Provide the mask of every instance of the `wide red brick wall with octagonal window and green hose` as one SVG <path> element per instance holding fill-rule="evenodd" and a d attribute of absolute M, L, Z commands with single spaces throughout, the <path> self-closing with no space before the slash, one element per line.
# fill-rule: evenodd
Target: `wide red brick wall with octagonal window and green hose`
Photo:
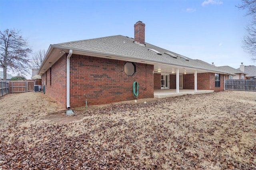
<path fill-rule="evenodd" d="M 104 59 L 83 55 L 70 58 L 70 107 L 108 104 L 133 100 L 132 85 L 139 84 L 138 98 L 154 97 L 154 66 L 136 63 L 136 72 L 127 76 L 126 61 Z M 145 90 L 144 90 L 145 89 Z"/>

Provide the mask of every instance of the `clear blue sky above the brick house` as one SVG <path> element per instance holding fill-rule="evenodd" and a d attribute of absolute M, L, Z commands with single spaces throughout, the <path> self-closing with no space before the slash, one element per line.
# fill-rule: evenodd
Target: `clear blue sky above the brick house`
<path fill-rule="evenodd" d="M 216 66 L 255 65 L 242 49 L 250 18 L 240 0 L 0 0 L 0 30 L 20 29 L 31 49 L 111 35 L 134 37 Z"/>

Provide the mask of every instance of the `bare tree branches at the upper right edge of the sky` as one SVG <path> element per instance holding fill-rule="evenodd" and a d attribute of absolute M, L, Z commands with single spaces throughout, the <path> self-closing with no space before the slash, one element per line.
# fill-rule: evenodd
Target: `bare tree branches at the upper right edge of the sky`
<path fill-rule="evenodd" d="M 251 23 L 245 27 L 246 35 L 242 41 L 242 48 L 252 55 L 252 61 L 256 62 L 256 0 L 242 0 L 238 8 L 246 9 L 246 16 L 252 16 Z"/>

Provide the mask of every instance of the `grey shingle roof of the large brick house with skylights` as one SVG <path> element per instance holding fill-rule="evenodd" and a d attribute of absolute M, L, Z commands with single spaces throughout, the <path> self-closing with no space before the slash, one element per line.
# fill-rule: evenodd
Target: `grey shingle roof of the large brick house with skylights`
<path fill-rule="evenodd" d="M 145 43 L 145 46 L 138 45 L 134 43 L 134 39 L 130 37 L 125 37 L 122 35 L 115 35 L 109 37 L 101 37 L 95 39 L 86 39 L 80 41 L 71 41 L 66 43 L 54 44 L 55 46 L 60 46 L 64 48 L 76 49 L 76 50 L 86 50 L 86 51 L 96 51 L 102 53 L 109 53 L 111 55 L 119 55 L 123 57 L 132 57 L 140 60 L 154 61 L 159 63 L 173 64 L 178 66 L 187 66 L 190 68 L 200 68 L 203 70 L 210 70 L 215 72 L 224 72 L 216 66 L 211 64 L 206 64 L 205 62 L 199 62 L 199 60 L 189 59 L 186 61 L 180 57 L 177 59 L 170 57 L 170 55 L 165 54 L 172 53 L 174 55 L 180 55 L 172 51 L 157 47 L 155 45 Z M 157 55 L 152 53 L 148 49 L 154 49 L 162 53 L 162 55 Z"/>

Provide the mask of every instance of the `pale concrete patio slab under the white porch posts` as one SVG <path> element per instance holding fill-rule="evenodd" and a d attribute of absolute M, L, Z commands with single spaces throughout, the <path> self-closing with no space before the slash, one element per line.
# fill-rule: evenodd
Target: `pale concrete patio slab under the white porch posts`
<path fill-rule="evenodd" d="M 214 90 L 190 90 L 190 89 L 179 89 L 179 92 L 176 92 L 176 89 L 161 89 L 154 90 L 154 98 L 168 98 L 174 96 L 182 96 L 186 94 L 205 94 L 205 93 L 213 93 Z"/>

